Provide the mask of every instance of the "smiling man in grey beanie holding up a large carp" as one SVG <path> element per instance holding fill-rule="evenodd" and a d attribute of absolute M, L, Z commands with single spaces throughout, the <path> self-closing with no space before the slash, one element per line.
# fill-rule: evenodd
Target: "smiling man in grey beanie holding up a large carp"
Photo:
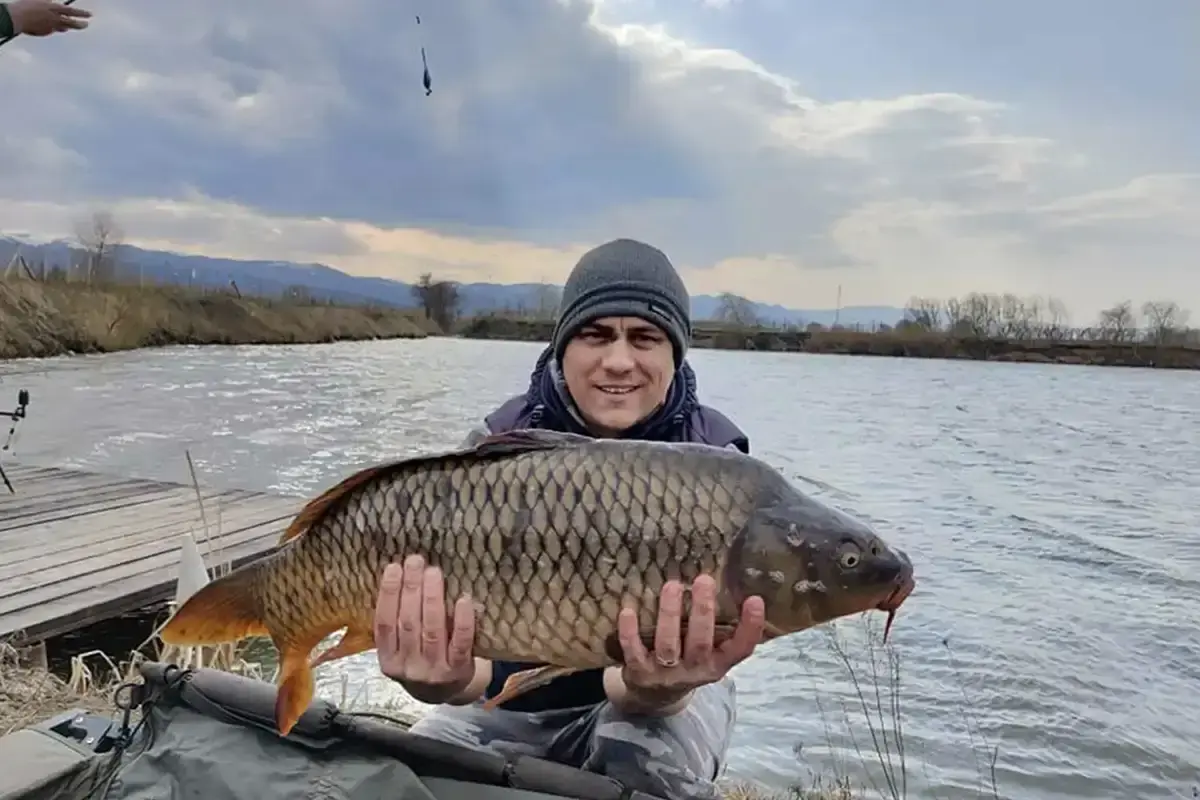
<path fill-rule="evenodd" d="M 550 428 L 596 438 L 700 441 L 749 452 L 746 435 L 701 405 L 685 361 L 690 299 L 671 261 L 648 245 L 616 240 L 586 253 L 563 290 L 553 341 L 528 390 L 500 405 L 468 438 Z M 608 775 L 662 798 L 715 798 L 734 712 L 726 673 L 761 640 L 763 606 L 750 599 L 734 637 L 713 646 L 715 585 L 692 585 L 680 642 L 683 587 L 660 596 L 653 654 L 626 609 L 619 620 L 625 666 L 576 673 L 514 698 L 496 711 L 478 704 L 535 664 L 473 658 L 472 603 L 461 600 L 445 631 L 443 582 L 419 557 L 384 573 L 376 643 L 384 674 L 416 699 L 438 704 L 415 733 L 548 758 Z M 422 613 L 426 608 L 438 610 Z M 422 620 L 425 624 L 422 628 Z M 706 633 L 707 631 L 707 633 Z"/>

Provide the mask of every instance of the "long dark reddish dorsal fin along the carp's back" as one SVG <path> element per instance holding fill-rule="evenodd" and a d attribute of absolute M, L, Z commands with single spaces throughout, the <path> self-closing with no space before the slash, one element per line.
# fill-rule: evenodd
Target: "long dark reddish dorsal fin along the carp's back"
<path fill-rule="evenodd" d="M 383 477 L 388 473 L 402 468 L 410 468 L 418 462 L 458 458 L 502 458 L 534 450 L 570 447 L 588 441 L 594 441 L 594 439 L 577 433 L 559 433 L 558 431 L 542 431 L 533 428 L 506 431 L 504 433 L 485 435 L 470 447 L 440 453 L 413 456 L 410 458 L 402 458 L 360 469 L 306 503 L 300 510 L 300 513 L 298 513 L 288 525 L 287 530 L 283 531 L 283 535 L 280 537 L 280 545 L 295 539 L 312 528 L 322 517 L 325 516 L 335 503 L 348 495 L 350 492 L 354 492 L 378 477 Z"/>

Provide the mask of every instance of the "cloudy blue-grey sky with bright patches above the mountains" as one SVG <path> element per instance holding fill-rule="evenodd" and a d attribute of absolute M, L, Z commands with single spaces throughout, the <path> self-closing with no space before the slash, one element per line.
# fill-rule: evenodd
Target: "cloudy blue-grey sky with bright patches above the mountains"
<path fill-rule="evenodd" d="M 78 5 L 0 48 L 7 234 L 504 283 L 631 236 L 694 294 L 1200 317 L 1194 0 Z"/>

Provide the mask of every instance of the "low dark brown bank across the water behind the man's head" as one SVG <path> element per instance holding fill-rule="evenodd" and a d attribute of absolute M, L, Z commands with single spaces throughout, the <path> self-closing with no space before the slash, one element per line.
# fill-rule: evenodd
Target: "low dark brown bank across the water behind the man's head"
<path fill-rule="evenodd" d="M 548 342 L 552 330 L 551 320 L 494 314 L 464 320 L 457 333 L 464 338 Z M 991 339 L 955 336 L 941 331 L 896 329 L 808 331 L 740 327 L 697 320 L 694 326 L 692 347 L 714 350 L 874 355 L 900 359 L 1200 369 L 1200 347 L 1193 345 L 1098 339 Z"/>

